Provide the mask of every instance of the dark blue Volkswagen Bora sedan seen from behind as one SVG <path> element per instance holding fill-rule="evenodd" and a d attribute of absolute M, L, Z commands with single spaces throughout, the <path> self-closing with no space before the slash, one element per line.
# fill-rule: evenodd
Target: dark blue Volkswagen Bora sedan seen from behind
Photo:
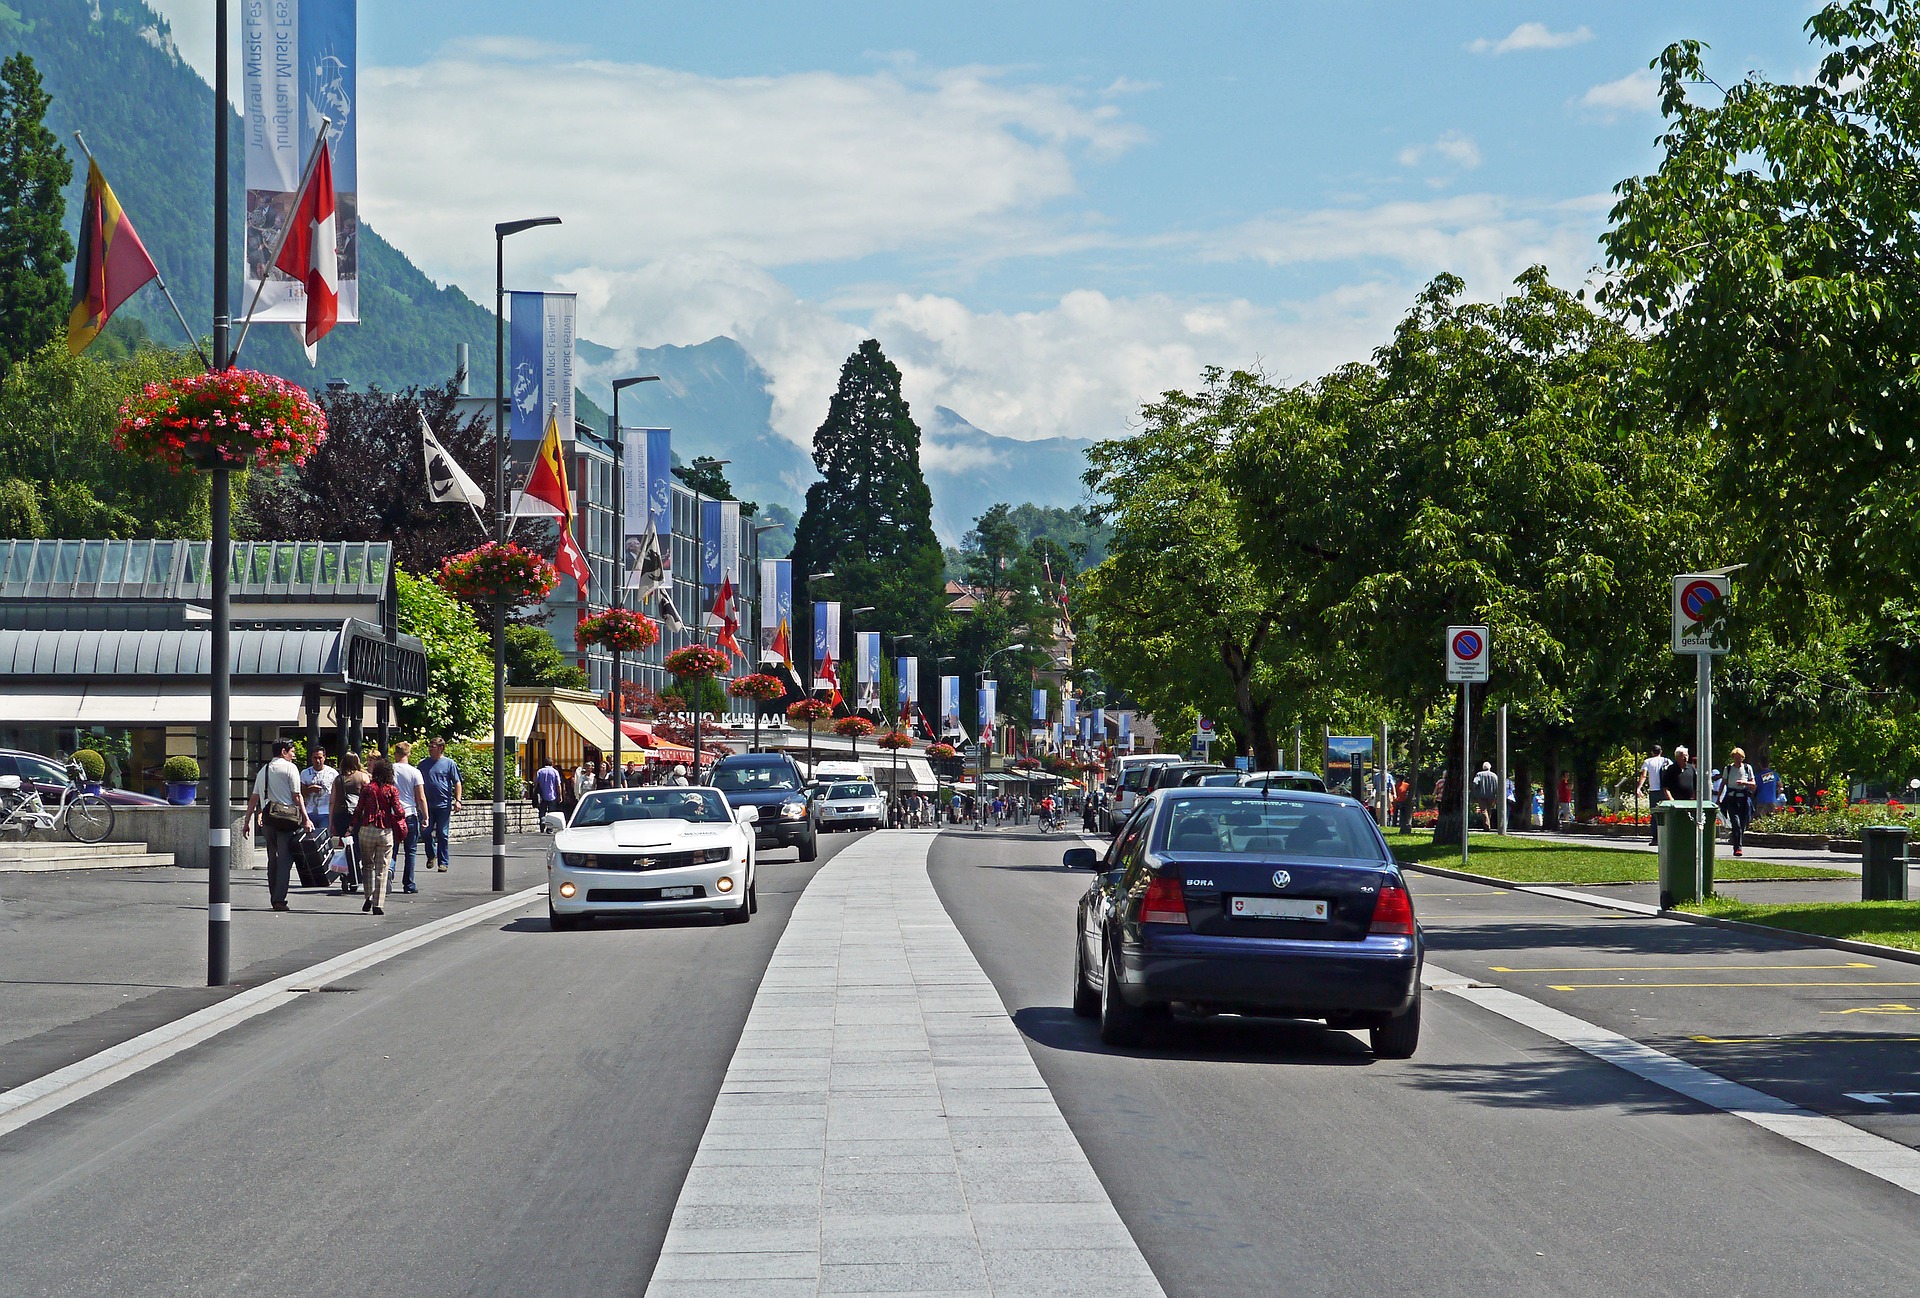
<path fill-rule="evenodd" d="M 1359 803 L 1283 789 L 1160 789 L 1121 826 L 1079 902 L 1073 1012 L 1137 1045 L 1173 1006 L 1369 1029 L 1380 1058 L 1421 1037 L 1421 931 Z"/>

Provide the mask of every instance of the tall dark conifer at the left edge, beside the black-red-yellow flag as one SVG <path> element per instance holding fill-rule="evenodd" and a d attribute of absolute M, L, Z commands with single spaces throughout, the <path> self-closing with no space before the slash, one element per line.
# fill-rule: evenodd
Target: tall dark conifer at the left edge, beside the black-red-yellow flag
<path fill-rule="evenodd" d="M 73 240 L 61 190 L 73 159 L 46 129 L 52 102 L 27 54 L 0 63 L 0 376 L 67 319 Z"/>

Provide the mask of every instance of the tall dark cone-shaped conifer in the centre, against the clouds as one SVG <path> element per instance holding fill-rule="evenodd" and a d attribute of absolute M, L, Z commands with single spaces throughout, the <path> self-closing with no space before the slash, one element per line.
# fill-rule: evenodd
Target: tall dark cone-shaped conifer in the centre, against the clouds
<path fill-rule="evenodd" d="M 929 634 L 945 607 L 933 495 L 900 371 L 872 338 L 841 367 L 814 467 L 822 480 L 806 488 L 795 572 L 831 570 L 845 607 L 877 611 L 868 626 Z"/>

